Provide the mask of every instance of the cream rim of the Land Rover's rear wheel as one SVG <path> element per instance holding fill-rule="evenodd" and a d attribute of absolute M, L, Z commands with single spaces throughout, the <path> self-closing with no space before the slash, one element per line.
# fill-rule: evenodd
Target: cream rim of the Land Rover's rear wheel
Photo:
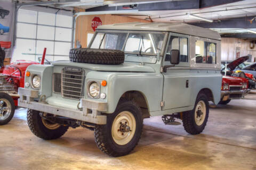
<path fill-rule="evenodd" d="M 206 115 L 206 105 L 203 100 L 200 100 L 195 109 L 195 122 L 198 126 L 201 126 L 204 123 Z"/>

